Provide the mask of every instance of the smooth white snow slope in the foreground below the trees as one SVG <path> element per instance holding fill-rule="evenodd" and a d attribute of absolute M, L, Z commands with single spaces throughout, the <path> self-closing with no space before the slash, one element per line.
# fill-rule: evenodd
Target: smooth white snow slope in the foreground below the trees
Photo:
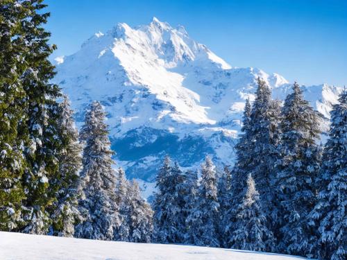
<path fill-rule="evenodd" d="M 1 260 L 244 260 L 244 259 L 302 259 L 280 254 L 266 254 L 190 245 L 159 245 L 67 239 L 0 232 Z"/>

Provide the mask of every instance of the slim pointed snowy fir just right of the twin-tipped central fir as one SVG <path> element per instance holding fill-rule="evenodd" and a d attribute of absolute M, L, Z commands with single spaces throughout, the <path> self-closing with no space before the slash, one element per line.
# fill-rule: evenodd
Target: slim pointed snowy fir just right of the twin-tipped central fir
<path fill-rule="evenodd" d="M 194 245 L 219 247 L 219 202 L 217 176 L 210 157 L 201 165 L 201 184 L 194 212 L 190 216 L 190 232 L 194 232 Z"/>

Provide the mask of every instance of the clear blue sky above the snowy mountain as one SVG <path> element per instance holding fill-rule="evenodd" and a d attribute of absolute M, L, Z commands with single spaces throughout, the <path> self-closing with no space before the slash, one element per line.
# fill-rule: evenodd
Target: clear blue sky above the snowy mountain
<path fill-rule="evenodd" d="M 54 57 L 118 22 L 152 17 L 189 35 L 235 67 L 258 67 L 301 84 L 347 85 L 347 0 L 46 0 Z"/>

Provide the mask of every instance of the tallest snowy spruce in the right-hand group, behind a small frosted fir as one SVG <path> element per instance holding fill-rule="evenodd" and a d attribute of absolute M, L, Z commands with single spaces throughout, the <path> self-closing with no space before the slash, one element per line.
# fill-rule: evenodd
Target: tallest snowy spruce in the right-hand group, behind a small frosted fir
<path fill-rule="evenodd" d="M 278 160 L 278 102 L 271 100 L 271 91 L 261 78 L 257 79 L 257 92 L 251 108 L 246 102 L 243 127 L 236 148 L 237 162 L 232 170 L 232 196 L 230 206 L 226 209 L 223 223 L 225 225 L 224 237 L 227 241 L 233 232 L 238 205 L 242 203 L 246 187 L 246 175 L 251 173 L 257 183 L 260 193 L 266 227 L 273 229 L 273 220 L 276 220 L 276 189 L 273 182 Z M 226 247 L 231 245 L 226 243 Z"/>

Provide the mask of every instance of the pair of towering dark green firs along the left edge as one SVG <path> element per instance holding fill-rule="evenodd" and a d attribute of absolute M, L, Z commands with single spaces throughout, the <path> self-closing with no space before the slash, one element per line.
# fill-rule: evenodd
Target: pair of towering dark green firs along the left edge
<path fill-rule="evenodd" d="M 42 13 L 41 0 L 1 3 L 0 197 L 6 203 L 0 202 L 0 215 L 9 207 L 14 212 L 1 229 L 44 234 L 50 222 L 46 209 L 55 200 L 49 180 L 58 176 L 61 146 L 60 89 L 49 83 L 55 46 L 42 27 L 49 14 Z"/>

